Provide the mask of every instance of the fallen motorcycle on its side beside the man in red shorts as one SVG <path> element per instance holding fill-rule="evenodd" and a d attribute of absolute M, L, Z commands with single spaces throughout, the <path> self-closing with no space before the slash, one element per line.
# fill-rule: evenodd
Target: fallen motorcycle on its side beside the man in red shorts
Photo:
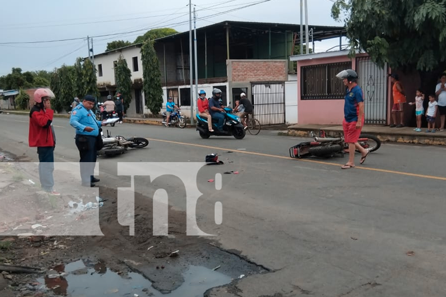
<path fill-rule="evenodd" d="M 378 150 L 381 146 L 379 138 L 368 134 L 359 135 L 358 143 L 371 152 Z M 301 142 L 289 148 L 291 158 L 330 157 L 336 154 L 344 155 L 346 152 L 348 152 L 348 144 L 344 142 L 343 135 L 338 138 L 315 137 L 314 141 Z"/>

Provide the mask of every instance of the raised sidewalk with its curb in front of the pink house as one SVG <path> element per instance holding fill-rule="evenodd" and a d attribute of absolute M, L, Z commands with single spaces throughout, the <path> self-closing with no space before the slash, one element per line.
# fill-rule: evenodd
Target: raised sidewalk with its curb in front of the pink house
<path fill-rule="evenodd" d="M 376 135 L 383 142 L 402 142 L 429 145 L 446 146 L 446 130 L 436 131 L 436 133 L 425 133 L 427 128 L 422 128 L 422 132 L 413 131 L 414 127 L 389 128 L 389 126 L 364 126 L 362 134 Z M 282 135 L 311 137 L 319 136 L 319 131 L 324 130 L 326 137 L 338 137 L 343 133 L 342 125 L 293 125 Z M 313 132 L 313 133 L 312 133 Z"/>

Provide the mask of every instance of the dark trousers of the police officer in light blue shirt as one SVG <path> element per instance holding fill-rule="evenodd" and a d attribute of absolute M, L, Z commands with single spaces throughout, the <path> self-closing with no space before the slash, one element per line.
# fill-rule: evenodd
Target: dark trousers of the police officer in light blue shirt
<path fill-rule="evenodd" d="M 93 182 L 93 175 L 96 165 L 96 137 L 91 135 L 76 135 L 76 146 L 79 150 L 80 171 L 82 184 L 90 184 Z"/>

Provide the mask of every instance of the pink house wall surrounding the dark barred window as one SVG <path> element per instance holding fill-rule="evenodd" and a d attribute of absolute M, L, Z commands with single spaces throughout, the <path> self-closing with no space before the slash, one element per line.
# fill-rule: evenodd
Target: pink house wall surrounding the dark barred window
<path fill-rule="evenodd" d="M 351 61 L 351 67 L 355 69 L 356 59 L 350 59 L 347 56 L 297 61 L 297 120 L 299 124 L 342 125 L 343 99 L 301 100 L 301 67 L 347 61 Z"/>

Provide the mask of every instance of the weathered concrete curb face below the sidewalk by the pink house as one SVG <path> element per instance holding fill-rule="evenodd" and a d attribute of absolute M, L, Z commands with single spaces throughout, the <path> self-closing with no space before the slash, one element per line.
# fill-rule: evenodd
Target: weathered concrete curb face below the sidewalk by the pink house
<path fill-rule="evenodd" d="M 415 144 L 426 144 L 426 145 L 440 145 L 446 146 L 446 134 L 413 134 L 410 132 L 401 131 L 398 134 L 392 134 L 388 132 L 376 132 L 368 130 L 368 127 L 364 127 L 362 131 L 363 134 L 371 134 L 378 137 L 382 142 L 399 142 L 399 143 L 415 143 Z M 294 136 L 294 137 L 311 137 L 311 132 L 314 136 L 319 135 L 319 128 L 289 128 L 287 133 L 280 132 L 279 135 Z M 343 133 L 342 127 L 339 129 L 323 129 L 327 137 L 339 137 Z M 437 132 L 438 133 L 438 132 Z"/>

